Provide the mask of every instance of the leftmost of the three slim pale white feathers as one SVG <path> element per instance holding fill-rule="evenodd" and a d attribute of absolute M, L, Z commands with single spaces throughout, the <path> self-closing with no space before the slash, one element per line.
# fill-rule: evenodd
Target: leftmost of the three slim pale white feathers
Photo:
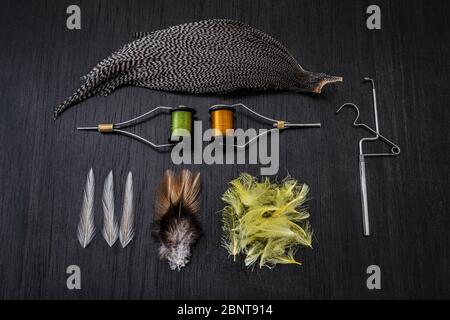
<path fill-rule="evenodd" d="M 77 229 L 77 238 L 83 248 L 86 248 L 95 237 L 94 187 L 94 172 L 91 168 L 86 178 L 83 205 L 81 206 L 80 222 Z"/>

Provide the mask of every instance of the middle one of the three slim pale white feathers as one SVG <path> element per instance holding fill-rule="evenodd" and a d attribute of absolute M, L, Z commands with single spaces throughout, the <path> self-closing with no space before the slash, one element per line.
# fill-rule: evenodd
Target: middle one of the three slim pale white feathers
<path fill-rule="evenodd" d="M 119 227 L 114 216 L 114 180 L 112 171 L 109 172 L 103 186 L 103 238 L 110 247 L 119 237 Z"/>

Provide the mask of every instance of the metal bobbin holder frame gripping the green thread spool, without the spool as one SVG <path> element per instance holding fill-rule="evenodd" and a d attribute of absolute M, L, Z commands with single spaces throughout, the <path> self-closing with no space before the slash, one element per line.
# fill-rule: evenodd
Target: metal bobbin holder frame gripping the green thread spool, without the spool
<path fill-rule="evenodd" d="M 118 134 L 122 134 L 124 136 L 133 138 L 135 140 L 138 140 L 142 143 L 145 143 L 153 148 L 156 149 L 160 149 L 160 148 L 167 148 L 167 147 L 171 147 L 174 144 L 173 143 L 166 143 L 166 144 L 157 144 L 154 143 L 150 140 L 147 140 L 133 132 L 130 131 L 126 131 L 123 130 L 124 128 L 128 128 L 128 127 L 132 127 L 136 124 L 142 123 L 146 120 L 148 120 L 149 116 L 157 111 L 173 111 L 176 110 L 177 108 L 173 108 L 173 107 L 164 107 L 164 106 L 159 106 L 156 107 L 144 114 L 141 114 L 140 116 L 137 116 L 133 119 L 130 120 L 126 120 L 123 122 L 119 122 L 119 123 L 101 123 L 99 125 L 97 125 L 96 127 L 78 127 L 77 130 L 86 130 L 86 131 L 98 131 L 100 133 L 118 133 Z"/>

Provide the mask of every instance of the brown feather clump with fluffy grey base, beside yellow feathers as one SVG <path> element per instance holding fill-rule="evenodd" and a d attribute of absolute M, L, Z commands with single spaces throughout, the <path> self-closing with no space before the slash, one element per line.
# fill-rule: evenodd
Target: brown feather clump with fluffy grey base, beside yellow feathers
<path fill-rule="evenodd" d="M 167 170 L 156 191 L 154 236 L 160 242 L 159 256 L 170 269 L 186 266 L 195 242 L 201 236 L 200 173 Z"/>

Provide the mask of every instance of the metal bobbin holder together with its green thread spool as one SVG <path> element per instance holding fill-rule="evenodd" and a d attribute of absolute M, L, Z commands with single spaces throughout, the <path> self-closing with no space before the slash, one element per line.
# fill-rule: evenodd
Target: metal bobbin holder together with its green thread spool
<path fill-rule="evenodd" d="M 157 144 L 150 140 L 147 140 L 133 132 L 126 131 L 124 128 L 132 127 L 136 124 L 142 123 L 150 117 L 151 114 L 155 112 L 166 111 L 170 113 L 170 138 L 169 143 L 165 144 Z M 176 142 L 180 141 L 183 137 L 188 136 L 192 133 L 192 124 L 193 117 L 195 114 L 195 110 L 193 108 L 189 108 L 183 105 L 178 107 L 164 107 L 159 106 L 156 107 L 140 116 L 137 116 L 133 119 L 126 120 L 119 123 L 102 123 L 97 125 L 96 127 L 78 127 L 78 130 L 90 130 L 90 131 L 98 131 L 100 133 L 118 133 L 130 138 L 136 139 L 142 143 L 145 143 L 155 149 L 160 148 L 168 148 L 172 147 L 176 144 Z"/>

